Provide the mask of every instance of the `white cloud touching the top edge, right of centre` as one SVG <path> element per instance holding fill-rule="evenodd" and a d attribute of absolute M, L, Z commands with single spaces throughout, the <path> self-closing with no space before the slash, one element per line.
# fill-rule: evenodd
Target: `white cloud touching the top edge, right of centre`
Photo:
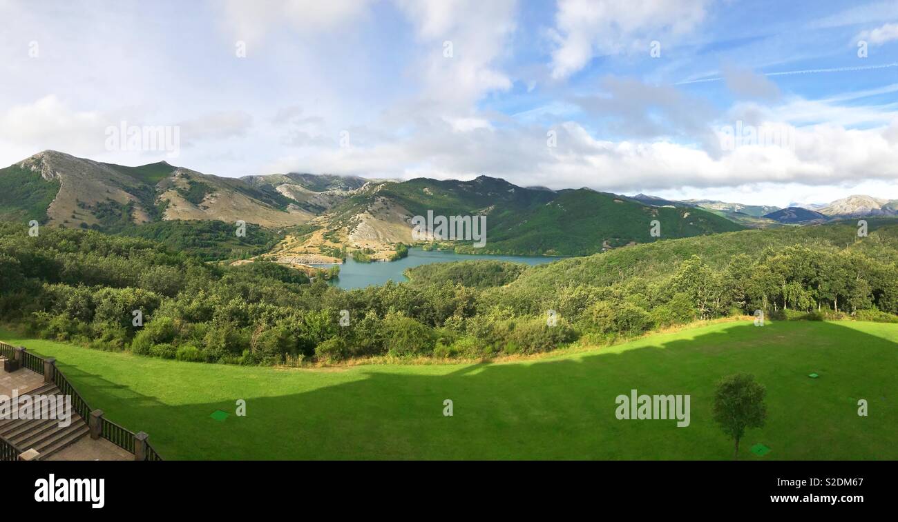
<path fill-rule="evenodd" d="M 705 20 L 709 0 L 559 0 L 552 52 L 552 77 L 565 78 L 596 55 L 648 54 L 652 40 L 662 49 Z M 663 51 L 662 51 L 663 52 Z"/>

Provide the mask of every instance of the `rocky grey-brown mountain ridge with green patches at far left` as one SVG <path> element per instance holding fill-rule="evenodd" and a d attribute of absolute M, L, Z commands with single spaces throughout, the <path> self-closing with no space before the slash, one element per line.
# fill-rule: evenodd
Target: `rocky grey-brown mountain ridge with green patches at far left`
<path fill-rule="evenodd" d="M 0 193 L 23 181 L 38 192 L 58 186 L 44 208 L 0 199 L 0 214 L 101 229 L 161 220 L 244 220 L 280 227 L 313 218 L 276 190 L 164 161 L 126 167 L 44 151 L 0 169 Z"/>

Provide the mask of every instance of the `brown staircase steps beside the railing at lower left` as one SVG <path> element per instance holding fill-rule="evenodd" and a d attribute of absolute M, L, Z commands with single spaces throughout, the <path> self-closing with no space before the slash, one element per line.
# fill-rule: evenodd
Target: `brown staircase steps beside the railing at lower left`
<path fill-rule="evenodd" d="M 22 394 L 25 395 L 25 394 Z M 61 396 L 59 388 L 48 383 L 27 393 L 29 396 Z M 57 420 L 0 420 L 0 437 L 26 451 L 34 448 L 40 458 L 47 458 L 62 448 L 74 444 L 88 434 L 87 421 L 72 411 L 72 422 L 65 428 Z"/>

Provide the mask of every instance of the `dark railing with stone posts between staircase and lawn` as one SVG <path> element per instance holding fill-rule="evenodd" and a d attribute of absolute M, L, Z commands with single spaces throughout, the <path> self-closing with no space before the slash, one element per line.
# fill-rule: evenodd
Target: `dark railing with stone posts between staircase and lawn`
<path fill-rule="evenodd" d="M 0 355 L 3 355 L 8 359 L 14 359 L 15 352 L 15 347 L 11 346 L 10 344 L 0 342 Z M 22 351 L 22 366 L 35 373 L 44 375 L 44 358 L 40 357 L 40 355 L 36 355 L 28 351 Z M 56 366 L 54 366 L 53 370 L 53 384 L 55 384 L 59 388 L 59 391 L 62 392 L 64 396 L 72 397 L 72 409 L 75 410 L 75 413 L 81 415 L 81 418 L 84 419 L 84 422 L 88 422 L 91 417 L 91 412 L 93 411 L 91 406 L 87 404 L 87 401 L 84 400 L 84 397 L 82 397 L 81 394 L 78 393 L 78 390 L 75 389 L 75 386 L 68 380 L 68 378 L 66 378 L 66 375 L 63 374 L 62 371 L 59 371 Z M 127 428 L 124 428 L 105 417 L 101 417 L 100 422 L 100 436 L 103 439 L 109 440 L 111 443 L 115 444 L 119 448 L 127 450 L 129 453 L 134 453 L 134 431 L 130 431 Z M 159 453 L 157 453 L 156 450 L 152 446 L 150 446 L 148 442 L 144 443 L 144 447 L 145 460 L 163 460 L 162 457 L 159 457 Z M 5 439 L 0 439 L 0 460 L 15 460 L 16 458 L 18 458 L 20 453 L 22 453 L 22 451 L 18 448 L 15 448 L 15 446 L 13 446 L 11 442 Z M 12 457 L 6 458 L 7 456 Z"/>

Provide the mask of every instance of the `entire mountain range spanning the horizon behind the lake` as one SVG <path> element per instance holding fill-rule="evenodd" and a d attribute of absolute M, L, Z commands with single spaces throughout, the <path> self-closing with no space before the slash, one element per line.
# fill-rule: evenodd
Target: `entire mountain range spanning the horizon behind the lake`
<path fill-rule="evenodd" d="M 411 218 L 487 215 L 488 241 L 437 244 L 459 251 L 578 256 L 659 239 L 744 228 L 898 215 L 898 202 L 850 196 L 818 211 L 803 208 L 620 196 L 590 188 L 518 187 L 500 178 L 408 181 L 286 173 L 224 178 L 165 161 L 127 167 L 44 151 L 0 169 L 0 218 L 124 231 L 165 222 L 237 222 L 281 240 L 269 257 L 286 264 L 390 259 L 411 244 Z M 178 234 L 183 236 L 184 225 Z M 217 231 L 217 229 L 216 229 Z M 132 231 L 133 232 L 133 231 Z M 216 232 L 217 233 L 217 232 Z M 268 240 L 268 239 L 267 239 Z"/>

